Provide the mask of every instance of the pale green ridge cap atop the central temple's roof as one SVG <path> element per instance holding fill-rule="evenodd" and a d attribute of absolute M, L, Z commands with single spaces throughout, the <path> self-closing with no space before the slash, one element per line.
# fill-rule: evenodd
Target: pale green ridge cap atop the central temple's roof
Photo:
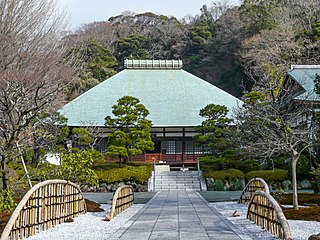
<path fill-rule="evenodd" d="M 182 60 L 124 60 L 124 68 L 127 69 L 182 69 L 182 67 Z"/>

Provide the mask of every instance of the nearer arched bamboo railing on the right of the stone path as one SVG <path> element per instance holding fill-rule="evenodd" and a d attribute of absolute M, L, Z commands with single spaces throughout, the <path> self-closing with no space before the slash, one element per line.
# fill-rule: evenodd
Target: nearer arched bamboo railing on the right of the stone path
<path fill-rule="evenodd" d="M 253 194 L 247 218 L 280 239 L 291 240 L 291 230 L 278 202 L 269 194 L 257 191 Z"/>

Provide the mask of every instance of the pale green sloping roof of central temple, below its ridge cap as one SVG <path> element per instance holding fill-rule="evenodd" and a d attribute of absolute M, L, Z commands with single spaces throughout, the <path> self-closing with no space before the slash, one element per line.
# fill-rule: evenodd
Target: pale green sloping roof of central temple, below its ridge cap
<path fill-rule="evenodd" d="M 242 105 L 234 96 L 182 70 L 125 69 L 100 83 L 61 110 L 69 126 L 104 126 L 112 106 L 130 95 L 146 106 L 154 126 L 196 126 L 207 104 Z"/>

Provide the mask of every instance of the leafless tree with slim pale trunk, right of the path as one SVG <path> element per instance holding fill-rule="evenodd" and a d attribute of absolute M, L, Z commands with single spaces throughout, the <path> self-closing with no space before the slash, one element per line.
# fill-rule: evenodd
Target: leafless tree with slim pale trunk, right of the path
<path fill-rule="evenodd" d="M 297 162 L 314 142 L 314 106 L 303 101 L 285 107 L 262 92 L 245 95 L 244 106 L 236 112 L 241 148 L 247 153 L 269 159 L 277 154 L 290 156 L 293 207 L 298 209 Z"/>

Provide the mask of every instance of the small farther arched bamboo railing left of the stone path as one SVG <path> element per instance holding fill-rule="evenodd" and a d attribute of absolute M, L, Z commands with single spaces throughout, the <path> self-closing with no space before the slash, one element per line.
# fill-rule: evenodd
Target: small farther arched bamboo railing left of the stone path
<path fill-rule="evenodd" d="M 133 202 L 133 188 L 127 185 L 119 187 L 113 195 L 111 212 L 108 216 L 106 216 L 106 220 L 110 221 L 119 213 L 131 207 Z"/>

